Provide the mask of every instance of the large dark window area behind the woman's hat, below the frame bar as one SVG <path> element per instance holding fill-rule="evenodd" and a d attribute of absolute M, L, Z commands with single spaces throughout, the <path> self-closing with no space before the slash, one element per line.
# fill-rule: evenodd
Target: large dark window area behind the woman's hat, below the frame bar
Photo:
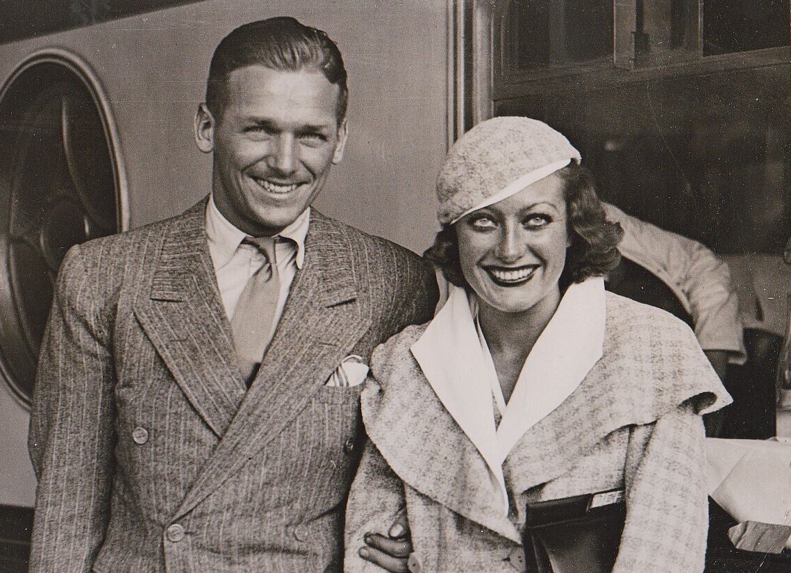
<path fill-rule="evenodd" d="M 568 135 L 604 199 L 721 254 L 782 252 L 791 229 L 789 72 L 761 66 L 498 101 Z"/>

